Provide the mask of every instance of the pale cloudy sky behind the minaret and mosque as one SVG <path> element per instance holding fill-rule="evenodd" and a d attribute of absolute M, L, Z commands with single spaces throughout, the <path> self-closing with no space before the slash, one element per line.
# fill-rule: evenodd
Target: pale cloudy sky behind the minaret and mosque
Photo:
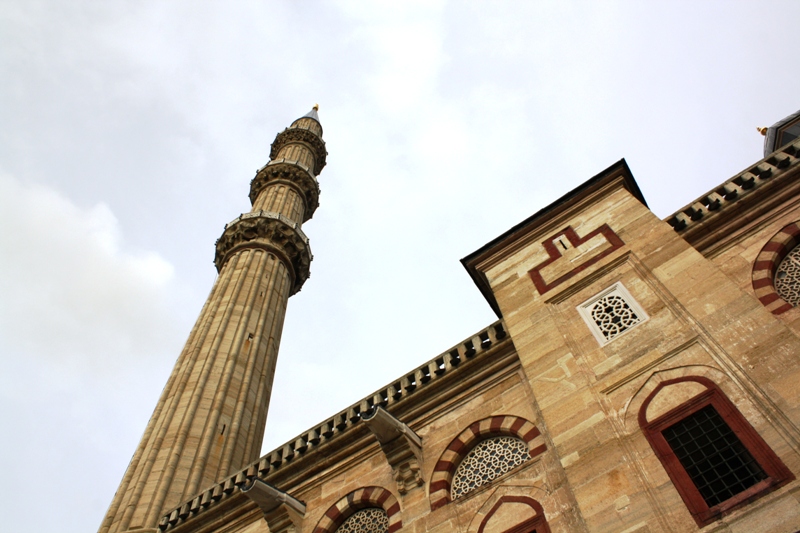
<path fill-rule="evenodd" d="M 798 20 L 765 0 L 0 0 L 4 527 L 99 527 L 214 241 L 315 103 L 314 261 L 263 452 L 492 323 L 459 259 L 619 159 L 662 218 L 761 159 L 755 128 L 800 108 Z"/>

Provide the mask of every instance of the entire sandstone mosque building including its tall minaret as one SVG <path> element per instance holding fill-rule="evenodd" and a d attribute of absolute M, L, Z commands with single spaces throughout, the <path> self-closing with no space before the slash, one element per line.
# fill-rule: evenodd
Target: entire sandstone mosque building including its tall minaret
<path fill-rule="evenodd" d="M 624 160 L 469 254 L 498 320 L 259 457 L 327 151 L 279 133 L 100 533 L 800 530 L 800 114 L 674 214 Z"/>

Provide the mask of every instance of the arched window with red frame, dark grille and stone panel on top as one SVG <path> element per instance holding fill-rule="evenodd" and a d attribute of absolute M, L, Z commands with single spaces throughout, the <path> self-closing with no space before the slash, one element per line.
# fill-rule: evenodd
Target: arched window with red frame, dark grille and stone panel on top
<path fill-rule="evenodd" d="M 708 378 L 661 382 L 642 404 L 639 425 L 700 527 L 794 479 Z"/>

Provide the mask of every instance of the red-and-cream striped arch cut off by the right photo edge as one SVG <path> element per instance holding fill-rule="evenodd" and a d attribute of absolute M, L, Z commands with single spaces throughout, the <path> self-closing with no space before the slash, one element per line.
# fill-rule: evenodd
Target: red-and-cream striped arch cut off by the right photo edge
<path fill-rule="evenodd" d="M 775 272 L 781 261 L 798 244 L 800 244 L 800 221 L 781 228 L 764 245 L 753 262 L 753 291 L 759 301 L 774 315 L 785 313 L 793 307 L 775 292 Z"/>

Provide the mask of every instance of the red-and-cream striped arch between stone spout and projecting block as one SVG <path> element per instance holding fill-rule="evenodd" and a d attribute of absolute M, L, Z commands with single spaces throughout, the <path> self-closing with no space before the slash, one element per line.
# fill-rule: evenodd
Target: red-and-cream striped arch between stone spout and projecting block
<path fill-rule="evenodd" d="M 524 418 L 498 415 L 473 422 L 450 442 L 436 462 L 430 483 L 431 511 L 447 505 L 452 500 L 450 490 L 452 489 L 453 474 L 470 450 L 484 439 L 500 436 L 517 437 L 525 441 L 532 458 L 547 449 L 544 439 L 539 438 L 541 436 L 539 429 Z"/>

